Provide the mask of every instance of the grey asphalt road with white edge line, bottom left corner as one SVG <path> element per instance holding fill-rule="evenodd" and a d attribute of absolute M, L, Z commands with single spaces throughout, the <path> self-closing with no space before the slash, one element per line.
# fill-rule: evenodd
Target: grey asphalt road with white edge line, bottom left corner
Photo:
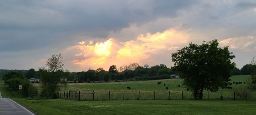
<path fill-rule="evenodd" d="M 0 115 L 35 115 L 9 98 L 2 98 L 0 92 Z"/>

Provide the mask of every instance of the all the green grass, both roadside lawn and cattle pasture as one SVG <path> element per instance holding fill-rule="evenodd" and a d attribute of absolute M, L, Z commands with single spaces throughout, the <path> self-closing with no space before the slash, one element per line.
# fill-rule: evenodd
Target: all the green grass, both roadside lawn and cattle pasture
<path fill-rule="evenodd" d="M 249 77 L 249 75 L 233 76 L 230 82 L 243 82 Z M 162 84 L 157 85 L 157 82 L 162 82 Z M 163 83 L 169 84 L 168 90 L 165 89 Z M 96 91 L 96 95 L 104 92 L 100 95 L 103 96 L 103 98 L 99 98 L 99 100 L 108 100 L 109 91 L 111 91 L 111 100 L 122 100 L 122 93 L 125 91 L 125 99 L 127 99 L 125 101 L 72 101 L 66 99 L 39 100 L 20 98 L 15 96 L 14 92 L 9 92 L 8 86 L 3 83 L 0 83 L 0 91 L 3 97 L 12 98 L 37 115 L 254 115 L 256 112 L 255 92 L 250 92 L 252 96 L 250 96 L 247 101 L 232 100 L 233 92 L 246 88 L 247 84 L 233 84 L 233 89 L 231 90 L 220 89 L 222 95 L 224 98 L 227 98 L 227 100 L 218 99 L 220 97 L 220 91 L 215 93 L 211 92 L 211 100 L 187 100 L 192 98 L 191 92 L 187 92 L 185 86 L 177 86 L 181 83 L 181 79 L 117 83 L 69 83 L 67 89 L 62 90 L 63 92 L 68 90 L 92 92 L 94 90 Z M 34 85 L 40 87 L 40 84 Z M 131 90 L 127 90 L 126 86 L 130 86 Z M 136 100 L 138 91 L 141 93 L 140 101 Z M 157 92 L 157 100 L 153 100 L 154 91 Z M 172 100 L 167 100 L 169 91 L 171 92 Z M 184 91 L 185 100 L 180 99 L 181 91 Z M 175 98 L 176 92 L 177 97 Z M 130 97 L 129 93 L 131 93 Z M 205 95 L 208 95 L 207 91 L 205 91 Z M 207 96 L 204 97 L 204 99 L 207 99 Z"/>

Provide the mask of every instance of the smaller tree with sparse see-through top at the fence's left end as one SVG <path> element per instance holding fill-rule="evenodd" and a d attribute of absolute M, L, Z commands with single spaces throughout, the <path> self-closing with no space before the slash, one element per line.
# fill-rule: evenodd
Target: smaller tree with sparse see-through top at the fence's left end
<path fill-rule="evenodd" d="M 41 96 L 49 98 L 57 98 L 61 88 L 66 87 L 67 83 L 61 80 L 64 76 L 61 54 L 52 55 L 46 62 L 46 69 L 39 69 L 41 72 L 42 92 Z"/>

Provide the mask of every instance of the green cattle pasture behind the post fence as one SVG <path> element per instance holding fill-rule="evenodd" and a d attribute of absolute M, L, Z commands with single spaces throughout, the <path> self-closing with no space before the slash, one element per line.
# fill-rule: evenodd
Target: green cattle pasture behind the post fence
<path fill-rule="evenodd" d="M 233 81 L 246 82 L 250 78 L 250 75 L 238 75 L 231 77 L 230 83 Z M 157 82 L 162 82 L 157 85 Z M 166 90 L 166 87 L 169 88 Z M 180 87 L 178 85 L 180 84 Z M 111 83 L 69 83 L 66 89 L 61 91 L 61 95 L 64 96 L 64 92 L 67 91 L 80 91 L 81 93 L 96 92 L 95 100 L 108 100 L 109 92 L 111 92 L 111 100 L 122 100 L 123 92 L 125 91 L 125 100 L 136 100 L 140 91 L 141 100 L 154 100 L 154 91 L 156 92 L 157 100 L 181 99 L 182 91 L 183 98 L 191 99 L 192 92 L 186 91 L 186 87 L 181 85 L 182 79 L 166 79 L 166 80 L 147 80 L 147 81 L 132 81 L 132 82 L 111 82 Z M 36 84 L 40 85 L 40 84 Z M 131 90 L 126 89 L 126 86 L 131 87 Z M 219 99 L 222 93 L 225 99 L 233 99 L 233 92 L 241 92 L 246 89 L 247 84 L 232 84 L 233 89 L 219 89 L 218 92 L 210 92 L 210 99 Z M 250 92 L 246 90 L 248 99 L 256 99 L 256 92 Z M 204 99 L 208 98 L 208 91 L 204 91 Z M 87 97 L 85 100 L 92 100 L 92 95 L 83 95 Z M 244 98 L 245 99 L 245 98 Z"/>

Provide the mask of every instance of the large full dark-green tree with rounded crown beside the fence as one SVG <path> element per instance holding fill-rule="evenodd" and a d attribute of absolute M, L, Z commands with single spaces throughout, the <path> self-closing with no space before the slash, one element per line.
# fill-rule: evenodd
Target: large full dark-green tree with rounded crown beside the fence
<path fill-rule="evenodd" d="M 216 92 L 227 86 L 230 70 L 235 66 L 232 54 L 228 46 L 218 47 L 218 40 L 212 40 L 201 45 L 189 43 L 172 54 L 172 61 L 194 99 L 202 99 L 204 89 Z"/>

